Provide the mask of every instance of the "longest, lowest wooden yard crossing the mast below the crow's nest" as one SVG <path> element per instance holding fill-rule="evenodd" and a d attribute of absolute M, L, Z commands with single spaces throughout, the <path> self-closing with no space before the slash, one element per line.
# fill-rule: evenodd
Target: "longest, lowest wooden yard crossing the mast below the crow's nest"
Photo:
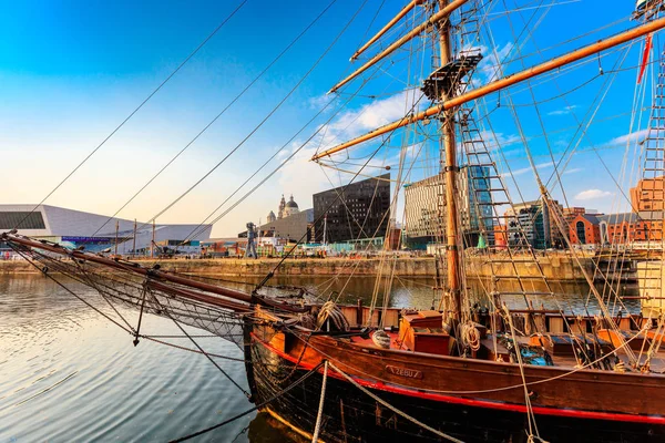
<path fill-rule="evenodd" d="M 452 3 L 451 3 L 452 4 Z M 641 27 L 636 27 L 633 28 L 628 31 L 622 32 L 620 34 L 613 35 L 608 39 L 605 40 L 601 40 L 596 43 L 590 44 L 587 47 L 584 47 L 582 49 L 579 49 L 576 51 L 573 51 L 571 53 L 557 56 L 555 59 L 552 59 L 548 62 L 541 63 L 539 65 L 535 65 L 533 68 L 530 68 L 528 70 L 524 71 L 520 71 L 516 74 L 511 74 L 508 75 L 503 79 L 497 80 L 494 82 L 491 82 L 484 86 L 481 86 L 477 90 L 467 92 L 466 94 L 461 94 L 458 95 L 454 99 L 451 100 L 447 100 L 444 103 L 438 104 L 436 106 L 429 107 L 422 112 L 419 112 L 417 114 L 413 115 L 407 115 L 406 117 L 393 122 L 393 123 L 389 123 L 385 126 L 378 127 L 367 134 L 360 135 L 359 137 L 356 137 L 354 140 L 350 140 L 346 143 L 342 143 L 340 145 L 337 145 L 335 147 L 331 147 L 329 150 L 326 150 L 319 154 L 316 154 L 314 157 L 311 157 L 313 161 L 317 161 L 321 157 L 328 156 L 330 154 L 335 154 L 339 151 L 344 151 L 347 150 L 351 146 L 355 146 L 357 144 L 360 144 L 362 142 L 367 142 L 369 140 L 376 138 L 379 135 L 383 135 L 383 134 L 388 134 L 391 133 L 392 131 L 410 125 L 412 123 L 416 122 L 420 122 L 422 120 L 429 119 L 433 115 L 438 115 L 441 111 L 446 111 L 446 110 L 450 110 L 457 106 L 460 106 L 464 103 L 468 103 L 472 100 L 475 99 L 480 99 L 482 96 L 485 96 L 488 94 L 491 94 L 493 92 L 503 90 L 505 87 L 512 86 L 514 84 L 521 83 L 525 80 L 532 79 L 534 76 L 544 74 L 546 72 L 553 71 L 555 69 L 559 69 L 563 65 L 576 62 L 579 60 L 585 59 L 589 55 L 593 55 L 595 53 L 598 53 L 601 51 L 604 51 L 606 49 L 610 48 L 614 48 L 617 47 L 622 43 L 626 43 L 631 40 L 635 40 L 640 37 L 644 37 L 651 32 L 656 32 L 662 30 L 663 28 L 665 28 L 665 18 L 663 19 L 658 19 L 658 20 L 654 20 L 649 23 L 643 24 Z"/>

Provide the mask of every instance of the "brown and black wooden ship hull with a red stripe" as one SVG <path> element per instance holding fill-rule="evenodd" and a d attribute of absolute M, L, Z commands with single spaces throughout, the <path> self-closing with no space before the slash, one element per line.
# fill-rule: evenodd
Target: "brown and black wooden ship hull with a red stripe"
<path fill-rule="evenodd" d="M 304 339 L 304 337 L 308 337 Z M 526 441 L 528 408 L 516 363 L 379 349 L 356 336 L 335 338 L 247 324 L 247 380 L 257 404 L 325 360 L 387 404 L 464 442 Z M 540 435 L 549 442 L 665 441 L 665 375 L 524 365 Z M 311 439 L 324 369 L 264 412 Z M 441 437 L 400 416 L 330 369 L 321 441 Z"/>

